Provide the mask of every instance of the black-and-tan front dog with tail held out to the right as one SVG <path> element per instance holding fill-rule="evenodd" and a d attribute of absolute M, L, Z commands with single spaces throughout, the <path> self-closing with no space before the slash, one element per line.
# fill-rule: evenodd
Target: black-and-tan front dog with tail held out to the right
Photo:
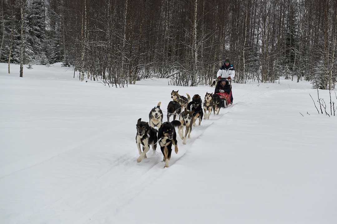
<path fill-rule="evenodd" d="M 177 120 L 164 122 L 158 130 L 159 145 L 164 155 L 163 161 L 165 161 L 164 168 L 168 167 L 168 163 L 170 162 L 172 145 L 174 145 L 174 151 L 178 153 L 177 133 L 174 127 L 179 127 L 180 124 L 181 123 Z"/>

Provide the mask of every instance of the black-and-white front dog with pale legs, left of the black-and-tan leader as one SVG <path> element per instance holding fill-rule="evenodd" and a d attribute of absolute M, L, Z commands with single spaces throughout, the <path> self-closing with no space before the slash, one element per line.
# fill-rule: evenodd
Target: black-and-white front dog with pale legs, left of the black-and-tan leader
<path fill-rule="evenodd" d="M 152 149 L 156 150 L 158 138 L 155 129 L 150 127 L 149 123 L 142 121 L 141 118 L 138 119 L 136 128 L 136 144 L 139 152 L 137 162 L 140 163 L 143 158 L 147 158 L 146 153 L 150 149 L 149 145 L 152 145 Z M 141 150 L 141 144 L 143 145 L 143 152 Z"/>

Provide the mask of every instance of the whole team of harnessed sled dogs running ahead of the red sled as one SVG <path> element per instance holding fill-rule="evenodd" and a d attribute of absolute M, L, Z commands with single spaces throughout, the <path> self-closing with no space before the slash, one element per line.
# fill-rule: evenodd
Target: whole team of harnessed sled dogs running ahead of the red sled
<path fill-rule="evenodd" d="M 178 90 L 179 91 L 179 90 Z M 206 92 L 204 104 L 202 103 L 201 96 L 195 94 L 191 97 L 186 93 L 187 97 L 179 95 L 178 91 L 171 92 L 171 98 L 173 99 L 167 105 L 167 122 L 163 121 L 163 113 L 160 109 L 159 102 L 149 114 L 150 124 L 148 122 L 138 119 L 136 128 L 136 144 L 139 151 L 139 158 L 137 162 L 140 163 L 143 158 L 146 157 L 146 153 L 150 149 L 150 145 L 153 150 L 157 148 L 157 142 L 159 142 L 161 152 L 164 155 L 163 161 L 164 167 L 168 167 L 168 163 L 171 158 L 172 145 L 174 150 L 178 153 L 177 146 L 177 134 L 175 127 L 178 128 L 179 137 L 183 140 L 183 144 L 186 144 L 186 139 L 190 138 L 192 131 L 192 125 L 195 126 L 195 121 L 198 119 L 199 125 L 204 119 L 209 119 L 210 114 L 219 114 L 221 107 L 221 98 L 217 94 Z M 170 122 L 170 117 L 173 115 L 173 121 Z M 179 116 L 179 120 L 176 120 Z M 159 128 L 158 130 L 155 128 Z M 185 128 L 185 134 L 183 134 Z M 141 150 L 143 146 L 143 151 Z"/>

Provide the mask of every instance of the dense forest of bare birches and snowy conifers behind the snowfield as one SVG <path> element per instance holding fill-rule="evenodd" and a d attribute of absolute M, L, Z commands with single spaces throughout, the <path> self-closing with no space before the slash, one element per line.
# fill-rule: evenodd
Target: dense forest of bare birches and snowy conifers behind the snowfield
<path fill-rule="evenodd" d="M 195 86 L 230 58 L 237 83 L 336 84 L 337 0 L 1 0 L 0 19 L 8 72 L 63 62 L 81 81 Z"/>

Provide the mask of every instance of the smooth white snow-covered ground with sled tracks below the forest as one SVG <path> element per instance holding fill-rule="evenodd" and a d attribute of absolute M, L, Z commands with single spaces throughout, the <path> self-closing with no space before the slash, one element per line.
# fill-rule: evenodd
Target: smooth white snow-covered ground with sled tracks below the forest
<path fill-rule="evenodd" d="M 337 223 L 337 116 L 317 113 L 309 82 L 233 84 L 233 106 L 178 137 L 164 169 L 159 147 L 136 162 L 137 120 L 173 89 L 214 88 L 73 75 L 0 63 L 1 224 Z"/>

